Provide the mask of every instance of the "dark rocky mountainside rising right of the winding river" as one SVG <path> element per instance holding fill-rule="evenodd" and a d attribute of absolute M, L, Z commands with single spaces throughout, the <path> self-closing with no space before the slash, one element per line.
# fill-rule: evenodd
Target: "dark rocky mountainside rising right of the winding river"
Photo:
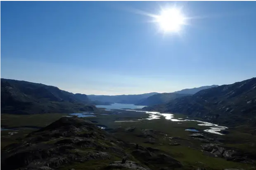
<path fill-rule="evenodd" d="M 184 113 L 225 125 L 256 125 L 256 78 L 201 90 L 147 110 Z"/>

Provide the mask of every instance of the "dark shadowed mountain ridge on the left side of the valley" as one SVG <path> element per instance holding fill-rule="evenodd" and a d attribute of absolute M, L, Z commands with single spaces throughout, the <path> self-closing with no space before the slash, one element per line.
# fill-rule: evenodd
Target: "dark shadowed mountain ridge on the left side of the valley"
<path fill-rule="evenodd" d="M 94 111 L 85 94 L 73 94 L 57 87 L 19 80 L 0 80 L 2 113 L 72 113 Z"/>

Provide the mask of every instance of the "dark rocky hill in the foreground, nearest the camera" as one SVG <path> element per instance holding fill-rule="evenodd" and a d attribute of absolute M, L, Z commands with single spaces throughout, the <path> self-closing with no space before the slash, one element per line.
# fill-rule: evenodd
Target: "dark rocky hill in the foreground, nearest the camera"
<path fill-rule="evenodd" d="M 3 170 L 171 170 L 182 166 L 159 149 L 128 144 L 77 117 L 63 117 L 0 152 Z"/>

